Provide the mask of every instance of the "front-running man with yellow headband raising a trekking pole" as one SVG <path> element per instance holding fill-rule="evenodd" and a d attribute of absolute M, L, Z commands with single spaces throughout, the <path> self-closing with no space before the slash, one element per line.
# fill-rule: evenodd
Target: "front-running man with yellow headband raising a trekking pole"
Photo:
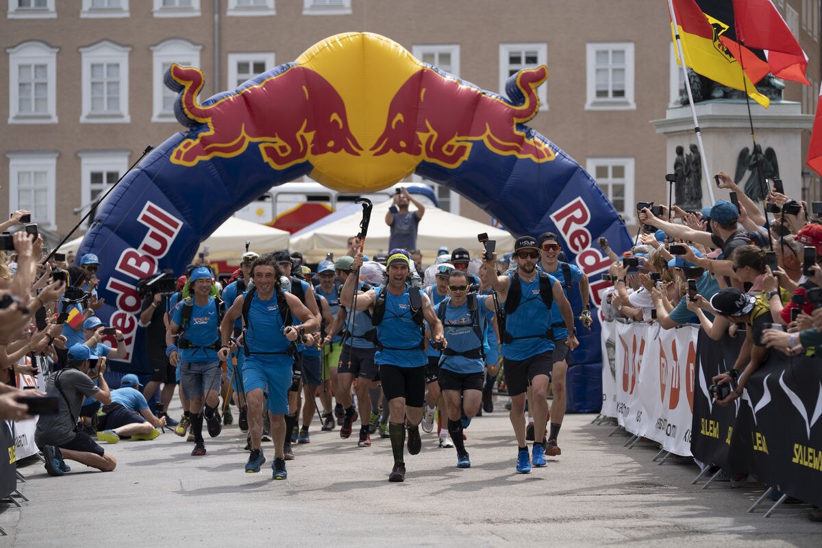
<path fill-rule="evenodd" d="M 363 253 L 354 256 L 352 272 L 363 265 Z M 404 481 L 405 463 L 403 421 L 408 417 L 409 453 L 422 448 L 419 423 L 425 402 L 425 365 L 423 318 L 431 325 L 432 340 L 445 346 L 440 320 L 426 295 L 411 288 L 411 261 L 404 253 L 395 253 L 386 261 L 388 279 L 385 286 L 369 289 L 353 302 L 357 276 L 345 280 L 339 302 L 358 312 L 371 311 L 376 325 L 377 348 L 374 361 L 380 367 L 382 390 L 390 408 L 389 433 L 394 467 L 388 481 Z M 416 292 L 413 294 L 411 292 Z M 419 301 L 417 301 L 419 299 Z M 416 302 L 416 305 L 413 303 Z M 354 306 L 356 304 L 356 306 Z M 379 306 L 378 306 L 379 305 Z M 380 316 L 382 316 L 380 318 Z M 381 321 L 378 321 L 381 320 Z"/>

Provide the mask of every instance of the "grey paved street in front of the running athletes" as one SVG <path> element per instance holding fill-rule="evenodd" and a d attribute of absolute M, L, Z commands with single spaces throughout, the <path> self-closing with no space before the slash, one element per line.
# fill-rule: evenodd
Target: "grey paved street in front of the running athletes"
<path fill-rule="evenodd" d="M 423 434 L 423 451 L 406 457 L 403 484 L 387 481 L 389 440 L 359 449 L 356 433 L 312 429 L 312 443 L 295 445 L 289 479 L 271 481 L 273 451 L 259 474 L 243 473 L 245 436 L 236 425 L 208 454 L 171 433 L 153 441 L 106 445 L 118 458 L 110 473 L 78 463 L 65 477 L 48 477 L 42 463 L 21 467 L 19 484 L 31 501 L 8 506 L 0 546 L 262 546 L 311 541 L 312 546 L 820 546 L 822 524 L 806 509 L 774 517 L 745 510 L 761 494 L 753 483 L 701 490 L 692 463 L 651 463 L 656 450 L 624 449 L 612 426 L 569 415 L 563 454 L 515 474 L 515 442 L 507 412 L 473 421 L 467 447 L 473 467 L 455 467 L 454 449 L 438 449 Z M 167 544 L 172 542 L 173 544 Z M 163 543 L 163 544 L 159 544 Z M 284 545 L 289 546 L 289 545 Z"/>

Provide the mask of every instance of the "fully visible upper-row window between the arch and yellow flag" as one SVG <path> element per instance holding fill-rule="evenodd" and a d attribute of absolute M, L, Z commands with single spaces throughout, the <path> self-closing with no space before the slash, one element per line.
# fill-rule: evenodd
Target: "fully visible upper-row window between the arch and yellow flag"
<path fill-rule="evenodd" d="M 585 45 L 588 110 L 632 110 L 634 103 L 634 44 Z"/>

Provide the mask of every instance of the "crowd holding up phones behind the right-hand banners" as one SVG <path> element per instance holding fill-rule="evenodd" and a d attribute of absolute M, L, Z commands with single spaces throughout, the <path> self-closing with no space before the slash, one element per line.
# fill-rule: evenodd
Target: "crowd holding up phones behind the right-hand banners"
<path fill-rule="evenodd" d="M 613 260 L 602 311 L 663 329 L 698 324 L 714 340 L 744 336 L 736 363 L 711 386 L 727 405 L 768 352 L 814 356 L 822 345 L 822 204 L 792 200 L 774 179 L 763 208 L 727 173 L 714 179 L 730 201 L 701 211 L 640 202 L 630 251 L 617 256 L 600 240 Z M 822 511 L 810 518 L 822 521 Z"/>

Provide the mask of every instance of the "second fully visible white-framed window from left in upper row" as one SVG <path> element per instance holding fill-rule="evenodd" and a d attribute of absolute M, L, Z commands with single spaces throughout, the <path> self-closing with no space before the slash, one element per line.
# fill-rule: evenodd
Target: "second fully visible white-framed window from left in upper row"
<path fill-rule="evenodd" d="M 130 122 L 128 53 L 132 48 L 103 40 L 80 48 L 83 112 L 80 122 Z"/>

